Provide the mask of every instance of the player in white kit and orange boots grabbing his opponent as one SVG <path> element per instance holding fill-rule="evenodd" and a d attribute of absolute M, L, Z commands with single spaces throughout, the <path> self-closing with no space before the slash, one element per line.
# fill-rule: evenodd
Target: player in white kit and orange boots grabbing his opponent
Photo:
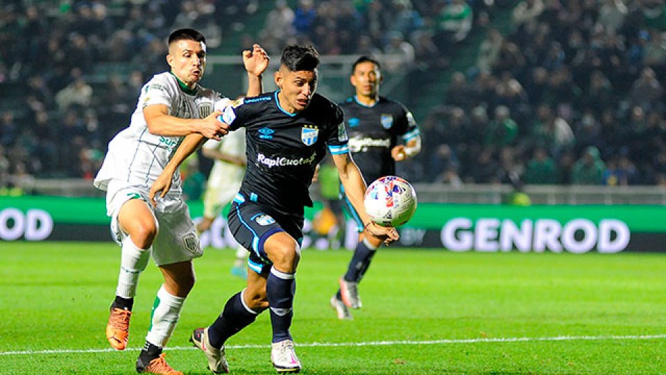
<path fill-rule="evenodd" d="M 262 91 L 261 75 L 268 56 L 258 44 L 243 52 L 248 71 L 248 95 Z M 125 349 L 139 274 L 153 256 L 164 276 L 153 304 L 146 344 L 137 372 L 182 374 L 164 360 L 167 344 L 180 317 L 185 297 L 194 285 L 192 259 L 202 255 L 194 223 L 182 199 L 180 176 L 153 207 L 148 190 L 185 135 L 199 133 L 219 140 L 226 133 L 217 117 L 228 103 L 218 92 L 198 82 L 206 66 L 204 36 L 191 28 L 169 35 L 169 72 L 156 74 L 142 88 L 130 125 L 109 142 L 108 153 L 94 185 L 105 190 L 111 230 L 121 245 L 116 297 L 110 308 L 106 335 L 114 349 Z"/>

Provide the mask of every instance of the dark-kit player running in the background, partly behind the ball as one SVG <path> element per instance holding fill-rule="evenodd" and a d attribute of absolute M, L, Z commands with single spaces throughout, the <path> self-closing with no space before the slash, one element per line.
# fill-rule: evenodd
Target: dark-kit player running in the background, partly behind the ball
<path fill-rule="evenodd" d="M 356 94 L 340 106 L 345 114 L 349 151 L 367 183 L 395 174 L 395 162 L 415 156 L 421 149 L 418 126 L 407 108 L 397 101 L 379 96 L 382 72 L 379 63 L 361 56 L 352 66 L 350 81 Z M 402 140 L 402 144 L 398 144 Z M 358 283 L 382 240 L 368 235 L 358 208 L 342 187 L 343 208 L 356 221 L 359 242 L 347 273 L 339 279 L 340 288 L 331 298 L 339 319 L 351 319 L 349 308 L 361 308 Z"/>

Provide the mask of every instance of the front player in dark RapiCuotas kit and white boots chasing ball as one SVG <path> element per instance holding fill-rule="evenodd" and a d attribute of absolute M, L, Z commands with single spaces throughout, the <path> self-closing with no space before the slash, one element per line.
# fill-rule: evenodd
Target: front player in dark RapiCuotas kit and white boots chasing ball
<path fill-rule="evenodd" d="M 228 372 L 224 343 L 270 308 L 271 361 L 278 372 L 300 371 L 289 327 L 293 317 L 296 267 L 300 259 L 303 212 L 311 206 L 308 188 L 316 165 L 330 151 L 348 199 L 361 222 L 378 241 L 398 239 L 395 228 L 377 226 L 363 209 L 366 183 L 348 152 L 342 110 L 316 94 L 319 56 L 313 47 L 284 49 L 275 72 L 279 90 L 240 99 L 223 110 L 228 130 L 246 128 L 246 174 L 228 216 L 239 244 L 250 251 L 247 288 L 234 294 L 207 328 L 191 342 L 201 349 L 209 368 Z M 173 173 L 203 137 L 187 137 L 151 188 L 151 199 L 164 196 Z"/>

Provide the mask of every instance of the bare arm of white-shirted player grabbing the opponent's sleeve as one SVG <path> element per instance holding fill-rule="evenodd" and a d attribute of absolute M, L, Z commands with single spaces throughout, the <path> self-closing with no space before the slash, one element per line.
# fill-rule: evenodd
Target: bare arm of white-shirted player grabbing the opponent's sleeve
<path fill-rule="evenodd" d="M 183 137 L 199 133 L 205 138 L 220 140 L 227 133 L 224 123 L 218 119 L 221 114 L 221 110 L 216 110 L 203 119 L 181 119 L 169 115 L 169 107 L 164 104 L 153 104 L 144 108 L 148 131 L 151 134 L 167 137 Z"/>

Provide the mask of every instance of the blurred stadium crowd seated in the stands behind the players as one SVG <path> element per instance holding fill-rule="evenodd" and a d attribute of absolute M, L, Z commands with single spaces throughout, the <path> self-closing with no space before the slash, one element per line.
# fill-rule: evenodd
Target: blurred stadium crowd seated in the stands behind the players
<path fill-rule="evenodd" d="M 169 31 L 199 28 L 214 51 L 260 12 L 245 32 L 273 56 L 291 42 L 400 54 L 393 68 L 421 76 L 484 38 L 416 114 L 414 182 L 666 185 L 663 0 L 15 0 L 0 6 L 0 188 L 92 178 L 146 77 L 167 69 Z"/>

